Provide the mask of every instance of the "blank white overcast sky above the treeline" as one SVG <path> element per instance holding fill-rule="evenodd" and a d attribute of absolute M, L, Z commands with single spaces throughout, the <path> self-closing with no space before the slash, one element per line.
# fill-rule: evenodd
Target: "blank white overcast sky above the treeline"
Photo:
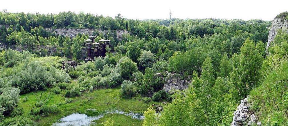
<path fill-rule="evenodd" d="M 221 18 L 273 20 L 288 11 L 288 0 L 3 0 L 0 9 L 8 12 L 80 12 L 129 19 Z"/>

